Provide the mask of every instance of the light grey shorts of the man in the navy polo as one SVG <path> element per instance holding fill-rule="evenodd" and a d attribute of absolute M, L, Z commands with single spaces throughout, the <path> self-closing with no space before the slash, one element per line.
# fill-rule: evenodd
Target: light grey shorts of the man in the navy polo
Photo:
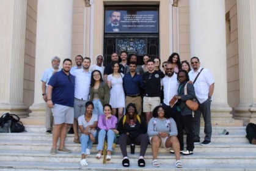
<path fill-rule="evenodd" d="M 53 112 L 55 125 L 60 125 L 62 123 L 74 123 L 74 107 L 54 104 L 51 111 Z"/>

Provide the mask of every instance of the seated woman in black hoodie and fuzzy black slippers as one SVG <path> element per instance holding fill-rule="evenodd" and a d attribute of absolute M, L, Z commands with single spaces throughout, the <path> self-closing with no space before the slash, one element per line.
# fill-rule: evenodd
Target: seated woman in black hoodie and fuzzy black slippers
<path fill-rule="evenodd" d="M 119 145 L 123 155 L 123 166 L 130 166 L 126 146 L 135 144 L 141 145 L 138 166 L 144 167 L 144 155 L 148 147 L 147 124 L 144 118 L 137 115 L 137 109 L 133 103 L 127 105 L 126 115 L 120 119 L 117 130 L 119 131 Z"/>

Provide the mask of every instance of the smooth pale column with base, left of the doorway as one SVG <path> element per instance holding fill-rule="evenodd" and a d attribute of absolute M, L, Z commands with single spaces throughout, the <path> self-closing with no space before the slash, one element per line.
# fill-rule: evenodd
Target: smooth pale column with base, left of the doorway
<path fill-rule="evenodd" d="M 60 68 L 65 58 L 71 58 L 73 0 L 38 0 L 37 42 L 35 53 L 35 96 L 29 107 L 29 119 L 44 123 L 45 101 L 42 98 L 43 71 L 51 67 L 51 58 L 60 57 Z"/>

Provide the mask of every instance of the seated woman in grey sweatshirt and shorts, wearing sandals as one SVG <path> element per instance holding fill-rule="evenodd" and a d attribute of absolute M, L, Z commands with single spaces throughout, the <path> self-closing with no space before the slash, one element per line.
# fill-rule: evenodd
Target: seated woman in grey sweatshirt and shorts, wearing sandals
<path fill-rule="evenodd" d="M 178 142 L 177 126 L 173 118 L 170 118 L 163 106 L 156 106 L 152 112 L 152 118 L 148 122 L 148 136 L 152 144 L 153 167 L 159 167 L 157 160 L 160 147 L 173 148 L 176 167 L 182 167 L 180 161 L 180 142 Z"/>

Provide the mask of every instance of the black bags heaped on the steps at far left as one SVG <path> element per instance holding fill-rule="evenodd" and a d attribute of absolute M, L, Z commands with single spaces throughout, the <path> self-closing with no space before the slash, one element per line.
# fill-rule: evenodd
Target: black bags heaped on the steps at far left
<path fill-rule="evenodd" d="M 21 133 L 25 130 L 23 123 L 20 122 L 20 117 L 18 117 L 18 115 L 9 113 L 6 113 L 0 117 L 1 128 L 4 128 L 4 126 L 6 126 L 5 123 L 9 121 L 11 122 L 10 127 L 8 128 L 8 131 L 4 133 L 9 133 L 9 131 L 10 133 Z"/>

